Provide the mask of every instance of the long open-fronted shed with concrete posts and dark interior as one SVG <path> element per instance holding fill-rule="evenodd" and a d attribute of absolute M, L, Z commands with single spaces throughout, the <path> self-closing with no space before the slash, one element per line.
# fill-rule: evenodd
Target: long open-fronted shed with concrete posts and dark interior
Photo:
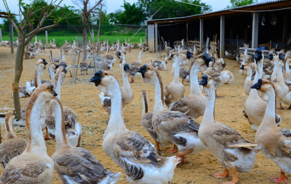
<path fill-rule="evenodd" d="M 163 41 L 173 46 L 181 44 L 184 38 L 189 48 L 195 45 L 204 51 L 205 45 L 215 45 L 214 52 L 220 57 L 225 50 L 238 51 L 244 42 L 250 48 L 290 50 L 290 15 L 291 0 L 264 0 L 233 9 L 149 20 L 148 46 L 150 51 L 157 52 Z"/>

